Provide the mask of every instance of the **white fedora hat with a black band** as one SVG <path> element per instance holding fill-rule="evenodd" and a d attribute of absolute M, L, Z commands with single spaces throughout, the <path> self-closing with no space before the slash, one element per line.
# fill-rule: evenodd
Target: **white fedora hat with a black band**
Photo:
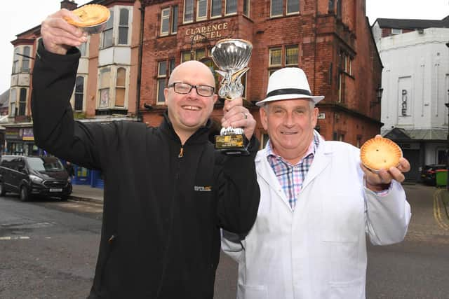
<path fill-rule="evenodd" d="M 268 102 L 282 99 L 311 99 L 316 103 L 324 99 L 323 95 L 311 95 L 307 76 L 302 69 L 286 67 L 275 71 L 268 80 L 267 97 L 257 102 L 257 106 L 264 106 Z"/>

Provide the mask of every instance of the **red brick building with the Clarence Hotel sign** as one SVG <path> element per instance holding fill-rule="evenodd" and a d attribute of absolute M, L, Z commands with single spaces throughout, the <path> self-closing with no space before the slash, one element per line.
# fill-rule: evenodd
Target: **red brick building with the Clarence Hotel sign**
<path fill-rule="evenodd" d="M 269 74 L 304 69 L 314 95 L 325 95 L 317 130 L 356 146 L 380 132 L 382 63 L 366 18 L 365 0 L 143 0 L 140 113 L 158 125 L 163 88 L 180 62 L 208 55 L 220 39 L 253 43 L 243 97 L 255 118 Z M 220 123 L 221 104 L 213 118 Z M 220 127 L 217 125 L 217 127 Z M 265 139 L 260 122 L 257 137 Z"/>

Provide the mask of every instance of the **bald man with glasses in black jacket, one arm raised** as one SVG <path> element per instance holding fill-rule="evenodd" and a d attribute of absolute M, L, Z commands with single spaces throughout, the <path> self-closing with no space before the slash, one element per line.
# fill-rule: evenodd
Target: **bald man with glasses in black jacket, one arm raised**
<path fill-rule="evenodd" d="M 208 141 L 217 100 L 208 67 L 176 67 L 159 127 L 75 122 L 69 99 L 86 41 L 69 11 L 41 25 L 33 72 L 34 137 L 76 165 L 101 169 L 105 203 L 100 251 L 89 298 L 213 298 L 220 228 L 245 234 L 260 191 L 255 120 L 241 99 L 225 104 L 222 125 L 243 127 L 250 155 L 217 153 Z"/>

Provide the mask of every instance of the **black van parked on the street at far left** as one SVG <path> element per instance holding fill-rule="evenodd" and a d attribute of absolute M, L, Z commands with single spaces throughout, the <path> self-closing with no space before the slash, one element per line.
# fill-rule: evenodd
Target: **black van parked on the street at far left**
<path fill-rule="evenodd" d="M 72 181 L 56 157 L 3 155 L 0 196 L 6 192 L 19 193 L 24 202 L 36 195 L 67 200 L 72 193 Z"/>

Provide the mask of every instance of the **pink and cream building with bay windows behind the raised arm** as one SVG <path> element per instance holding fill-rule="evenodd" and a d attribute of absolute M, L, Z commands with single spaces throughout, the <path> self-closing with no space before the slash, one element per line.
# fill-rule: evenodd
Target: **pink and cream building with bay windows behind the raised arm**
<path fill-rule="evenodd" d="M 107 123 L 113 120 L 138 121 L 138 71 L 140 64 L 140 1 L 91 1 L 109 8 L 105 30 L 91 35 L 79 47 L 81 59 L 70 104 L 81 122 Z M 74 1 L 63 0 L 61 8 L 73 10 Z M 49 12 L 51 13 L 51 12 Z M 41 39 L 40 26 L 17 35 L 6 127 L 6 153 L 45 154 L 34 144 L 30 101 L 32 67 Z M 79 183 L 101 184 L 101 175 L 77 168 Z"/>

